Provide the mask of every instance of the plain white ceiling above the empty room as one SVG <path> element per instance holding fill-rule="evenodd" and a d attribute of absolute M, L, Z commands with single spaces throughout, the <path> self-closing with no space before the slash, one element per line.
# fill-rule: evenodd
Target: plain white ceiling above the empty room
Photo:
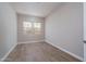
<path fill-rule="evenodd" d="M 34 16 L 46 17 L 54 9 L 58 9 L 60 2 L 11 2 L 17 13 Z"/>

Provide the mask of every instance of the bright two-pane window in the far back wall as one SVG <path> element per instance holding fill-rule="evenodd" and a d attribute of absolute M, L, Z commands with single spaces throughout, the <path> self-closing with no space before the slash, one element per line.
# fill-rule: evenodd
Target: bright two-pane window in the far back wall
<path fill-rule="evenodd" d="M 41 23 L 24 22 L 24 34 L 40 34 Z"/>

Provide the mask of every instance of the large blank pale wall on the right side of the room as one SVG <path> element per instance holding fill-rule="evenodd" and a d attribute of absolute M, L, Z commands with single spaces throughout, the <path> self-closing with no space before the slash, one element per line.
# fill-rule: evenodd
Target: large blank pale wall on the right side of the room
<path fill-rule="evenodd" d="M 65 3 L 52 12 L 46 18 L 46 40 L 83 59 L 83 3 Z"/>

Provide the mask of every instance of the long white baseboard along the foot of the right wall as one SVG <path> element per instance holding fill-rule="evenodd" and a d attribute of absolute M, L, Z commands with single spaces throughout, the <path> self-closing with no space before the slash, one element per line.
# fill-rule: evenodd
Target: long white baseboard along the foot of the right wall
<path fill-rule="evenodd" d="M 48 42 L 48 43 L 50 43 L 50 44 L 52 44 L 53 47 L 56 47 L 56 48 L 58 48 L 58 49 L 64 51 L 65 53 L 69 53 L 70 55 L 72 55 L 72 56 L 78 59 L 79 61 L 84 61 L 83 57 L 81 57 L 81 56 L 78 56 L 78 55 L 76 55 L 76 54 L 74 54 L 74 53 L 72 53 L 72 52 L 69 52 L 67 50 L 65 50 L 65 49 L 63 49 L 63 48 L 57 47 L 56 44 L 51 43 L 49 40 L 45 40 L 45 41 Z"/>

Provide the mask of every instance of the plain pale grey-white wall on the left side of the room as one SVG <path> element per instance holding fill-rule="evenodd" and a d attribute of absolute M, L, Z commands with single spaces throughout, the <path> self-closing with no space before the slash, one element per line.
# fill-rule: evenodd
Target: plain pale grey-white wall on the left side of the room
<path fill-rule="evenodd" d="M 9 3 L 0 2 L 0 60 L 16 44 L 16 14 Z"/>

